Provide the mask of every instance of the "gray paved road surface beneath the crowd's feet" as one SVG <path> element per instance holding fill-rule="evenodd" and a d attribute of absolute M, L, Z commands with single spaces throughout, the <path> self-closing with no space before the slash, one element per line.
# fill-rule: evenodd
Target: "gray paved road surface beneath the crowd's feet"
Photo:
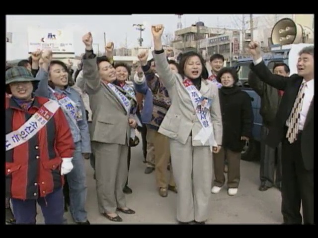
<path fill-rule="evenodd" d="M 145 164 L 142 162 L 141 144 L 132 149 L 129 186 L 133 193 L 127 195 L 127 205 L 136 211 L 135 215 L 120 214 L 122 223 L 111 222 L 98 213 L 93 170 L 86 161 L 87 172 L 87 205 L 88 220 L 92 224 L 175 224 L 176 194 L 170 192 L 167 197 L 160 197 L 155 187 L 155 175 L 144 174 Z M 259 165 L 253 162 L 241 162 L 241 182 L 239 192 L 230 197 L 226 188 L 219 194 L 212 194 L 210 219 L 211 224 L 263 223 L 280 224 L 281 195 L 276 188 L 265 192 L 258 191 Z M 38 208 L 38 223 L 43 223 Z M 73 223 L 69 213 L 65 214 L 68 223 Z"/>

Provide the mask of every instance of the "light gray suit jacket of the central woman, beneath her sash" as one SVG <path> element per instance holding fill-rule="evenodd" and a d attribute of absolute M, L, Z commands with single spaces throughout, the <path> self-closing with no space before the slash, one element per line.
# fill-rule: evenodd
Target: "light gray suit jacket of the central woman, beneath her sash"
<path fill-rule="evenodd" d="M 156 62 L 156 70 L 171 99 L 171 106 L 158 132 L 185 144 L 192 131 L 192 145 L 202 146 L 201 141 L 194 140 L 202 125 L 196 116 L 191 98 L 183 86 L 181 75 L 171 71 L 164 53 L 159 55 L 154 53 L 153 55 Z M 221 145 L 223 127 L 218 87 L 210 81 L 202 80 L 200 93 L 202 96 L 212 100 L 210 113 L 214 139 L 218 145 Z M 204 144 L 204 146 L 209 145 L 209 141 Z"/>

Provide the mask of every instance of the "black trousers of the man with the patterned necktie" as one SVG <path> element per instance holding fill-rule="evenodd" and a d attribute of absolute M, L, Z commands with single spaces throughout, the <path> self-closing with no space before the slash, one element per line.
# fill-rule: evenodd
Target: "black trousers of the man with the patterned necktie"
<path fill-rule="evenodd" d="M 282 144 L 282 214 L 286 224 L 314 224 L 314 171 L 304 168 L 301 140 L 299 133 L 294 143 L 284 139 Z"/>

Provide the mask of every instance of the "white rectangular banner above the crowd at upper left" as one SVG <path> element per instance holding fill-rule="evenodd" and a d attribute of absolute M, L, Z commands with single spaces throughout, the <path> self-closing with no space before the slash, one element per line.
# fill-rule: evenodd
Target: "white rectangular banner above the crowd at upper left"
<path fill-rule="evenodd" d="M 28 51 L 50 49 L 53 58 L 75 58 L 74 36 L 69 30 L 28 28 Z"/>

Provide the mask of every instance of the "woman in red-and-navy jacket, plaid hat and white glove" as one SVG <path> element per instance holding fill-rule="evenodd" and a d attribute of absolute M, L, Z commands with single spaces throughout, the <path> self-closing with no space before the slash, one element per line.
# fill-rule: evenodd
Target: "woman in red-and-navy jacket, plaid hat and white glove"
<path fill-rule="evenodd" d="M 73 169 L 71 130 L 59 105 L 33 94 L 36 79 L 25 67 L 5 72 L 5 184 L 16 224 L 63 224 L 64 175 Z"/>

